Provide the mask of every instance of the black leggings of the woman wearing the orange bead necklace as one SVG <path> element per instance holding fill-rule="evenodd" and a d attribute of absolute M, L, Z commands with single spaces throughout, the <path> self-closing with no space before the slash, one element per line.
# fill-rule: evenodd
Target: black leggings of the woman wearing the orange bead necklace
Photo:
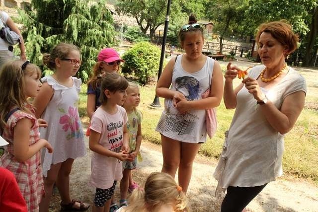
<path fill-rule="evenodd" d="M 227 194 L 221 205 L 221 212 L 241 212 L 267 185 L 254 187 L 227 188 Z"/>

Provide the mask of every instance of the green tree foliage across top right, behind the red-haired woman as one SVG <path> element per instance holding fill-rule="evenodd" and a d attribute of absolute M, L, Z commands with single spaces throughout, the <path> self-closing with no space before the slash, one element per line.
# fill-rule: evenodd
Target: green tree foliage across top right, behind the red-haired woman
<path fill-rule="evenodd" d="M 259 24 L 286 19 L 300 35 L 303 64 L 313 65 L 318 49 L 318 0 L 203 0 L 201 3 L 206 9 L 203 18 L 214 21 L 214 32 L 220 34 L 220 48 L 224 36 L 254 36 Z"/>

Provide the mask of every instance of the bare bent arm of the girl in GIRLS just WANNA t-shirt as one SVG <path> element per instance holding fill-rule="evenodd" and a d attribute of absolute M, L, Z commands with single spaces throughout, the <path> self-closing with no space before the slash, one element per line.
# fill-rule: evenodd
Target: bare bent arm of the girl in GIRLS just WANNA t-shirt
<path fill-rule="evenodd" d="M 99 139 L 100 139 L 100 133 L 97 133 L 96 131 L 90 129 L 90 135 L 89 135 L 89 141 L 88 141 L 88 146 L 90 150 L 104 156 L 115 157 L 119 160 L 124 160 L 123 157 L 125 155 L 123 155 L 122 152 L 114 152 L 109 149 L 106 149 L 104 146 L 102 146 L 99 143 Z"/>

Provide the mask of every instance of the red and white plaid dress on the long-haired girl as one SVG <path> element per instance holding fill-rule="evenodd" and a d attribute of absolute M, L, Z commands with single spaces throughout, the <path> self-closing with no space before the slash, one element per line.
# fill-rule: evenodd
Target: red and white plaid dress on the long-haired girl
<path fill-rule="evenodd" d="M 34 113 L 31 106 L 28 105 L 27 107 Z M 5 151 L 2 157 L 0 157 L 0 166 L 10 170 L 14 174 L 22 196 L 27 204 L 28 212 L 38 212 L 39 203 L 44 195 L 40 151 L 25 162 L 18 162 L 14 158 L 13 130 L 16 123 L 21 119 L 30 119 L 33 124 L 30 130 L 29 145 L 40 140 L 39 124 L 35 116 L 21 110 L 15 111 L 9 117 L 6 127 L 3 130 L 2 137 L 8 141 L 9 144 L 4 146 Z"/>

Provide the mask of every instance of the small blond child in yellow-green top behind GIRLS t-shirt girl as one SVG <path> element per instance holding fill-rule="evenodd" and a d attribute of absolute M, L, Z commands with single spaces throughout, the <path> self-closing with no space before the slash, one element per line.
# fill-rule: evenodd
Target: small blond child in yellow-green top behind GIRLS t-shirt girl
<path fill-rule="evenodd" d="M 123 104 L 128 116 L 127 128 L 129 132 L 129 159 L 123 162 L 123 178 L 120 181 L 120 207 L 127 206 L 127 192 L 133 191 L 139 185 L 133 181 L 132 170 L 137 167 L 137 155 L 141 145 L 141 121 L 142 114 L 137 110 L 140 103 L 139 86 L 135 82 L 129 82 L 127 98 Z"/>

